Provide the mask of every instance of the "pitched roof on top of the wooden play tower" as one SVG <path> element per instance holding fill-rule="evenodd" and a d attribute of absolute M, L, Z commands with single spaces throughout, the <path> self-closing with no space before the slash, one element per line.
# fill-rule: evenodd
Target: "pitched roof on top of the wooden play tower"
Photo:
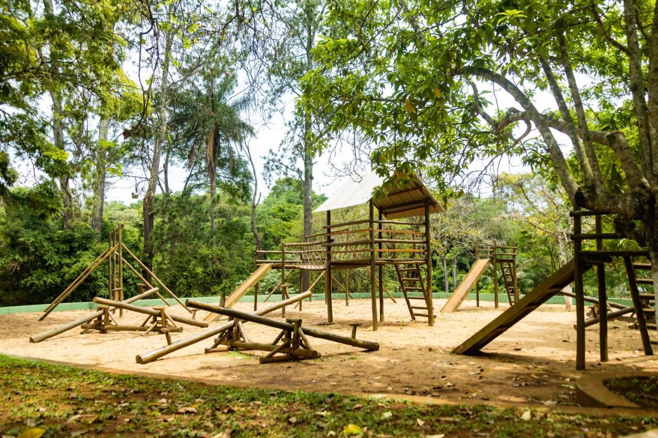
<path fill-rule="evenodd" d="M 384 216 L 389 219 L 423 216 L 426 199 L 430 202 L 430 213 L 443 212 L 443 208 L 415 173 L 407 175 L 407 178 L 402 177 L 398 175 L 393 183 L 384 185 L 383 188 L 387 193 L 385 197 L 374 199 L 374 205 Z M 340 185 L 334 195 L 316 208 L 315 212 L 365 204 L 372 198 L 374 189 L 384 184 L 385 180 L 386 178 L 378 176 L 374 171 L 363 177 L 360 182 L 348 180 Z"/>

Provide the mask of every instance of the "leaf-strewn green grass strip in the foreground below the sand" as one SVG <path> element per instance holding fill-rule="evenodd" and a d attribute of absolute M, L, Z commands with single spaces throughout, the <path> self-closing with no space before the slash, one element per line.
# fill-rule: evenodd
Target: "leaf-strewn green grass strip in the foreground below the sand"
<path fill-rule="evenodd" d="M 266 366 L 266 365 L 263 365 Z M 82 370 L 0 355 L 0 433 L 43 436 L 597 436 L 658 427 L 649 417 L 597 418 L 522 408 L 423 404 L 242 389 Z M 529 416 L 529 418 L 528 418 Z M 345 428 L 348 425 L 355 425 Z"/>

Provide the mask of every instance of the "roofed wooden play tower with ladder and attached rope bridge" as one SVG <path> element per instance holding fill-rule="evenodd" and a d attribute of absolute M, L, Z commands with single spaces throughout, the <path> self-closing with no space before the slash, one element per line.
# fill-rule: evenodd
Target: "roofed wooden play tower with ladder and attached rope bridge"
<path fill-rule="evenodd" d="M 383 178 L 374 172 L 359 183 L 347 182 L 316 208 L 315 212 L 326 212 L 322 232 L 305 236 L 303 242 L 283 243 L 281 251 L 257 251 L 257 266 L 270 265 L 271 269 L 281 271 L 281 281 L 274 290 L 280 289 L 282 296 L 288 297 L 286 280 L 291 270 L 319 272 L 324 275 L 327 322 L 331 324 L 334 272 L 366 268 L 370 274 L 372 329 L 376 330 L 378 322 L 384 321 L 384 292 L 393 299 L 384 287 L 383 270 L 385 266 L 393 266 L 411 319 L 424 317 L 432 326 L 429 224 L 430 214 L 443 210 L 413 173 L 399 173 L 392 184 L 382 183 Z M 374 197 L 372 193 L 379 186 L 384 194 Z M 368 218 L 332 223 L 332 210 L 364 204 L 368 205 Z M 341 287 L 349 304 L 349 283 Z M 257 298 L 254 300 L 256 303 Z"/>

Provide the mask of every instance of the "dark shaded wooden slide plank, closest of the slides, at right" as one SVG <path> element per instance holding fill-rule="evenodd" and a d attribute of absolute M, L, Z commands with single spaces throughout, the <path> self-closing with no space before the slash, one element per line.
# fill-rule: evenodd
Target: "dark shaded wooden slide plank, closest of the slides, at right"
<path fill-rule="evenodd" d="M 590 269 L 592 264 L 582 263 L 582 271 Z M 555 271 L 549 278 L 542 281 L 537 287 L 532 289 L 519 299 L 519 301 L 501 313 L 495 320 L 484 326 L 477 333 L 472 335 L 453 350 L 457 354 L 476 354 L 485 345 L 493 341 L 496 337 L 504 333 L 514 324 L 517 324 L 524 316 L 532 310 L 545 303 L 550 297 L 559 293 L 566 285 L 574 280 L 574 262 L 569 260 L 565 266 Z"/>

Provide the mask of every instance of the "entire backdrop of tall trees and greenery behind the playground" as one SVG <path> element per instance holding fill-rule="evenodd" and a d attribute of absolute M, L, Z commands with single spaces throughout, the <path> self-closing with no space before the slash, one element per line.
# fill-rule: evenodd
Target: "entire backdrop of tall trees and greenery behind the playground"
<path fill-rule="evenodd" d="M 445 207 L 435 291 L 494 242 L 519 246 L 529 291 L 569 259 L 576 204 L 616 214 L 605 231 L 628 239 L 611 245 L 643 242 L 658 285 L 658 109 L 642 91 L 658 93 L 643 74 L 658 72 L 654 6 L 407 3 L 5 0 L 0 304 L 51 301 L 116 224 L 178 295 L 228 293 L 255 249 L 317 230 L 331 194 L 313 191 L 318 163 L 336 178 L 418 172 Z M 285 137 L 257 165 L 250 141 L 275 116 Z M 522 173 L 499 172 L 505 160 Z M 118 183 L 134 203 L 106 202 Z M 611 296 L 626 293 L 620 272 L 609 266 Z M 70 299 L 106 286 L 98 270 Z M 125 287 L 136 293 L 132 274 Z"/>

